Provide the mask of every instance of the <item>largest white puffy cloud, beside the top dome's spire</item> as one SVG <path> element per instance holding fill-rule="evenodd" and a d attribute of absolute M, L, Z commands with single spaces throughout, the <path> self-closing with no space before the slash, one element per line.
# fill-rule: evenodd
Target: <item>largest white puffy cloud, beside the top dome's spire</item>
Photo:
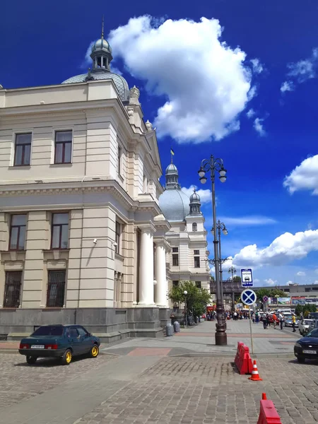
<path fill-rule="evenodd" d="M 226 45 L 221 35 L 219 21 L 206 18 L 154 23 L 139 16 L 111 31 L 115 59 L 122 57 L 149 93 L 167 99 L 154 123 L 158 136 L 200 143 L 240 128 L 252 73 L 245 52 Z"/>

